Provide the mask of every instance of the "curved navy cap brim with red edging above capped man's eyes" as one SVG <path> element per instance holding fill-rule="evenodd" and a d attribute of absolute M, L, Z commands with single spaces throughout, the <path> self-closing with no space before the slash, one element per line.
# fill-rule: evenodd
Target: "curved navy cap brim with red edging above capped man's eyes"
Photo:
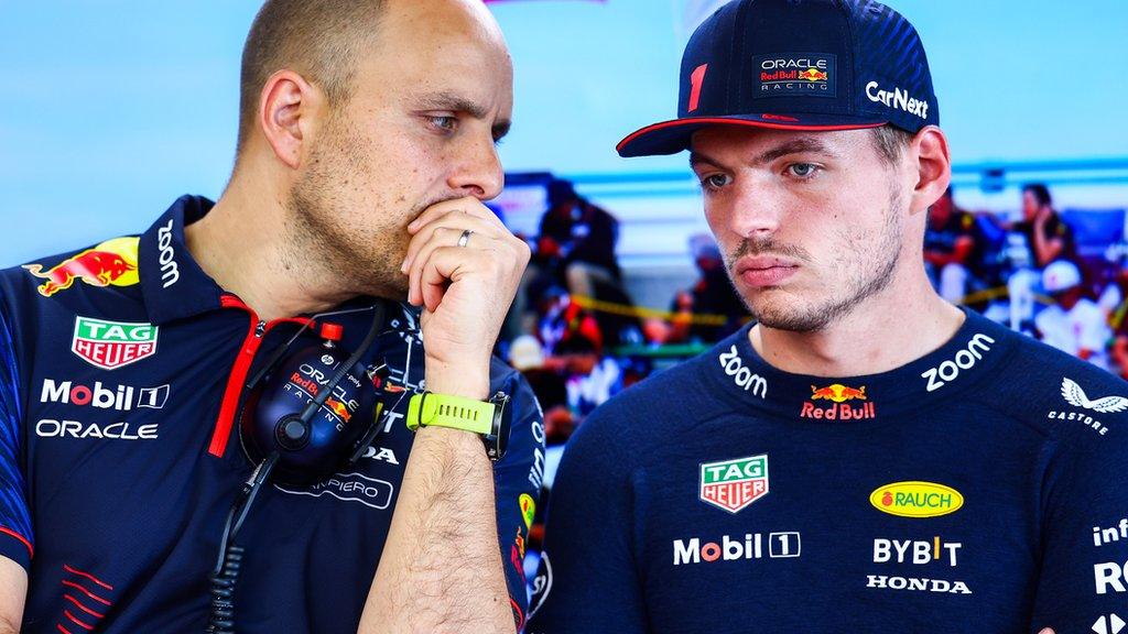
<path fill-rule="evenodd" d="M 676 155 L 689 149 L 694 132 L 711 125 L 739 125 L 766 127 L 769 130 L 861 130 L 878 127 L 889 123 L 885 120 L 847 115 L 797 115 L 750 114 L 733 116 L 690 116 L 663 121 L 647 125 L 619 141 L 615 149 L 623 158 Z"/>

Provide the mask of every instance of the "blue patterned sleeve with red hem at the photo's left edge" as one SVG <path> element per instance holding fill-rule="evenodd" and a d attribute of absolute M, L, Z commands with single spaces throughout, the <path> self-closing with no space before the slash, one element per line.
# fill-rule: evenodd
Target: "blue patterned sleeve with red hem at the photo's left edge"
<path fill-rule="evenodd" d="M 32 518 L 20 469 L 23 410 L 19 372 L 0 297 L 0 556 L 27 570 L 32 564 Z"/>

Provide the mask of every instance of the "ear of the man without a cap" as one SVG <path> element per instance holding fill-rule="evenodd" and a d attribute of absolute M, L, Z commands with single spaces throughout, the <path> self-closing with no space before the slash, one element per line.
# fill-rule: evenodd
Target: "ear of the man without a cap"
<path fill-rule="evenodd" d="M 301 165 L 324 96 L 292 70 L 280 70 L 263 85 L 258 98 L 258 127 L 274 156 L 291 169 Z"/>

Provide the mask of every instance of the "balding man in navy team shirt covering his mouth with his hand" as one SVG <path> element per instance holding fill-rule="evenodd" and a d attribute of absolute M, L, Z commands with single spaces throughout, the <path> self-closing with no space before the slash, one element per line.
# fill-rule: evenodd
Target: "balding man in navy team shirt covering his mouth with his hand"
<path fill-rule="evenodd" d="M 512 102 L 476 0 L 268 0 L 219 201 L 0 272 L 0 632 L 521 627 Z"/>

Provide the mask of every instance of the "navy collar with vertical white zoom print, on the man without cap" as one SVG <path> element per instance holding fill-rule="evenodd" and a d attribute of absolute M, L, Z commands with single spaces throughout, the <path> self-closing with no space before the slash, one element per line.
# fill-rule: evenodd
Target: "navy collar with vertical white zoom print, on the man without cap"
<path fill-rule="evenodd" d="M 223 290 L 204 273 L 184 241 L 184 227 L 214 205 L 203 196 L 180 196 L 141 235 L 138 273 L 151 323 L 160 325 L 222 307 Z"/>

